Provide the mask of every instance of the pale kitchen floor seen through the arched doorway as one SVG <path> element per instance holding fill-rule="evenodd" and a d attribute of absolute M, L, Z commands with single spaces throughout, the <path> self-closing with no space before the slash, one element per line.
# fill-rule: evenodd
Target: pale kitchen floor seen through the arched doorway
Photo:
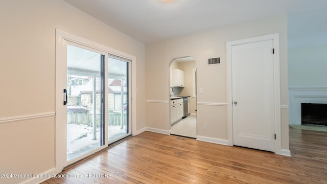
<path fill-rule="evenodd" d="M 196 138 L 196 116 L 189 115 L 172 126 L 171 134 Z"/>

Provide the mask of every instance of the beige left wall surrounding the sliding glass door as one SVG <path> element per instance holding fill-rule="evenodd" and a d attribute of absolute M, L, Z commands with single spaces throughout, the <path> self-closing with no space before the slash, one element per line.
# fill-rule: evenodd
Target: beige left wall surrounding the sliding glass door
<path fill-rule="evenodd" d="M 1 1 L 0 173 L 40 174 L 55 167 L 55 117 L 16 119 L 55 111 L 56 28 L 136 56 L 136 129 L 145 126 L 143 43 L 61 0 Z"/>

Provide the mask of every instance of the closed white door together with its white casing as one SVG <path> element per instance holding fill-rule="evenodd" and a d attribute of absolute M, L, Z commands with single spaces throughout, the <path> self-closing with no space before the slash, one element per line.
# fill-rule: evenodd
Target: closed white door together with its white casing
<path fill-rule="evenodd" d="M 227 42 L 227 72 L 229 145 L 281 154 L 279 35 Z"/>

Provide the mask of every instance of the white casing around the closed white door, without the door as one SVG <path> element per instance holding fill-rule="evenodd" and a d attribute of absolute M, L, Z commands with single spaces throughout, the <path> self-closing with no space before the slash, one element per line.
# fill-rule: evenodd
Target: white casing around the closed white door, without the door
<path fill-rule="evenodd" d="M 231 48 L 235 45 L 259 42 L 273 41 L 274 57 L 273 57 L 273 80 L 274 80 L 274 125 L 275 125 L 275 154 L 282 154 L 282 131 L 281 131 L 281 82 L 279 67 L 279 34 L 269 34 L 264 36 L 245 38 L 240 40 L 228 41 L 226 43 L 227 52 L 227 104 L 228 104 L 228 145 L 233 146 L 233 122 L 232 122 L 232 71 L 231 71 Z"/>

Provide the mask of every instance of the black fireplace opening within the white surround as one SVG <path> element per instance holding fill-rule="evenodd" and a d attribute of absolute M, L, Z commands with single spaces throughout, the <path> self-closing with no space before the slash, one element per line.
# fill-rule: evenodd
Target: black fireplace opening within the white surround
<path fill-rule="evenodd" d="M 301 103 L 301 124 L 327 126 L 327 104 Z"/>

